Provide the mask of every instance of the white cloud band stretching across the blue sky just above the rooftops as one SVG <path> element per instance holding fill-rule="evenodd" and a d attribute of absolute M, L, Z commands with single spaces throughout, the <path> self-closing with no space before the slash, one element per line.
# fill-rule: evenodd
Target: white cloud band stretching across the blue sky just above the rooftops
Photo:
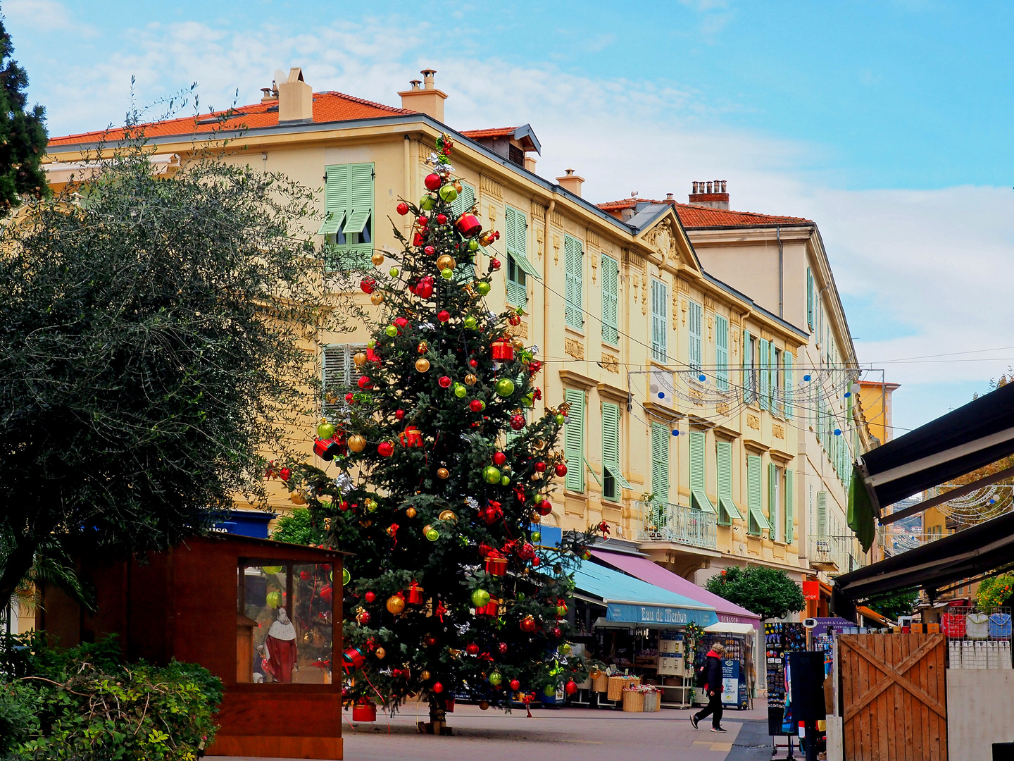
<path fill-rule="evenodd" d="M 462 31 L 440 33 L 467 41 Z M 530 122 L 544 145 L 539 174 L 552 178 L 576 168 L 587 179 L 586 198 L 612 200 L 632 190 L 681 198 L 692 180 L 722 178 L 730 182 L 734 208 L 816 220 L 843 293 L 893 321 L 885 335 L 892 335 L 891 326 L 900 327 L 893 335 L 914 334 L 857 342 L 862 361 L 1014 345 L 1010 191 L 837 190 L 809 170 L 822 162 L 822 146 L 723 127 L 723 113 L 737 108 L 734 102 L 674 81 L 593 80 L 548 63 L 512 65 L 478 48 L 445 56 L 434 53 L 433 33 L 409 16 L 298 33 L 277 25 L 226 30 L 197 22 L 153 24 L 131 32 L 129 50 L 136 52 L 80 65 L 61 62 L 42 99 L 53 134 L 78 132 L 122 118 L 132 74 L 140 102 L 198 81 L 202 103 L 221 108 L 236 88 L 241 103 L 256 101 L 275 69 L 301 65 L 315 89 L 399 105 L 395 92 L 433 65 L 438 86 L 450 94 L 449 124 L 467 129 Z M 1007 364 L 883 366 L 888 379 L 903 384 L 959 384 L 994 376 Z"/>

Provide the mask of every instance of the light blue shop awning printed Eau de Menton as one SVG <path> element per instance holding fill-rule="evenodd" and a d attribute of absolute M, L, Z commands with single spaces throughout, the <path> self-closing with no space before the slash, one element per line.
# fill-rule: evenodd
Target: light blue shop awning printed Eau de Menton
<path fill-rule="evenodd" d="M 597 563 L 581 563 L 574 572 L 574 582 L 580 592 L 602 601 L 605 621 L 609 623 L 653 628 L 718 623 L 718 615 L 710 605 Z"/>

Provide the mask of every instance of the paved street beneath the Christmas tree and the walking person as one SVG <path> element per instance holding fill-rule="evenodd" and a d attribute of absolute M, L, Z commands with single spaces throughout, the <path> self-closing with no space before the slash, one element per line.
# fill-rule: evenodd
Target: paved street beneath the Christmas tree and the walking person
<path fill-rule="evenodd" d="M 535 709 L 505 714 L 458 705 L 448 714 L 454 737 L 422 736 L 417 720 L 426 720 L 425 706 L 417 714 L 408 707 L 393 719 L 343 727 L 345 758 L 368 761 L 407 759 L 538 758 L 596 761 L 636 757 L 638 761 L 760 761 L 771 758 L 767 708 L 729 711 L 723 721 L 727 735 L 691 727 L 689 710 L 624 713 L 583 708 Z M 346 718 L 349 717 L 346 712 Z M 762 720 L 763 719 L 763 720 Z M 710 727 L 710 720 L 708 727 Z M 491 748 L 490 742 L 510 744 Z M 523 745 L 522 745 L 523 743 Z M 764 747 L 757 747 L 764 746 Z M 779 754 L 784 758 L 784 752 Z M 224 761 L 240 761 L 225 757 Z M 251 760 L 252 761 L 252 760 Z"/>

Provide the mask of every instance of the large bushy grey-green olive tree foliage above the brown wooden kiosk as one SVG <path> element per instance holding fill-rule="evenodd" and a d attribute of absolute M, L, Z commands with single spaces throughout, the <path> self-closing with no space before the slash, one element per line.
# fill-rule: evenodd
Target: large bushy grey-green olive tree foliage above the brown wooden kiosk
<path fill-rule="evenodd" d="M 44 541 L 143 552 L 264 494 L 334 316 L 314 195 L 136 130 L 0 233 L 0 598 Z M 16 506 L 16 507 L 15 507 Z"/>

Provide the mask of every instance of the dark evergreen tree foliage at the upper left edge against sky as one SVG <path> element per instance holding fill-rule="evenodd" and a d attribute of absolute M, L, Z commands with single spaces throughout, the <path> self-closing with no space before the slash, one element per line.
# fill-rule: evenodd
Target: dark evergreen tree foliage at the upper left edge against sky
<path fill-rule="evenodd" d="M 13 55 L 14 45 L 0 20 L 0 216 L 22 197 L 42 198 L 49 192 L 40 166 L 48 140 L 46 110 L 28 109 L 28 75 Z"/>

